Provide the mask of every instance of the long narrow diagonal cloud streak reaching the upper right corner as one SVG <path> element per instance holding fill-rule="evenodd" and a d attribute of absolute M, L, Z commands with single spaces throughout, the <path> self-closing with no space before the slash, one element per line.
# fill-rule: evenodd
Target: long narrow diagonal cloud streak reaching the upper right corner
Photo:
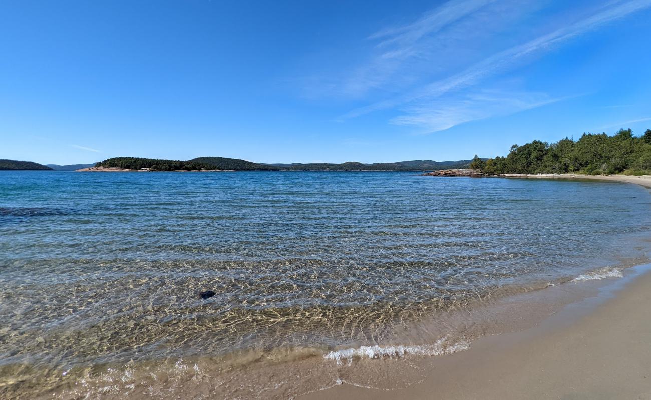
<path fill-rule="evenodd" d="M 611 1 L 611 3 L 605 7 L 599 8 L 596 12 L 594 12 L 594 14 L 587 18 L 584 18 L 583 20 L 576 21 L 571 25 L 562 27 L 561 29 L 557 29 L 551 33 L 538 36 L 537 38 L 534 38 L 529 42 L 525 42 L 524 44 L 510 47 L 504 51 L 499 51 L 490 57 L 486 57 L 486 59 L 478 62 L 477 64 L 474 64 L 473 66 L 465 69 L 463 72 L 456 73 L 447 78 L 434 81 L 428 85 L 425 85 L 422 89 L 413 90 L 411 92 L 408 92 L 408 94 L 398 96 L 396 98 L 378 101 L 371 105 L 354 109 L 353 111 L 340 116 L 339 119 L 346 120 L 382 109 L 390 109 L 402 105 L 408 105 L 414 101 L 439 98 L 445 94 L 477 85 L 477 83 L 480 83 L 487 77 L 505 71 L 507 68 L 513 66 L 521 59 L 524 59 L 526 56 L 550 51 L 551 49 L 555 48 L 555 46 L 559 46 L 562 43 L 571 40 L 572 38 L 588 33 L 590 31 L 594 31 L 595 29 L 598 29 L 607 23 L 618 20 L 620 18 L 624 18 L 630 14 L 633 14 L 634 12 L 638 12 L 649 7 L 651 7 L 651 0 Z M 420 26 L 419 23 L 416 25 Z M 410 29 L 407 29 L 405 32 L 402 32 L 400 29 L 398 29 L 394 32 L 398 33 L 398 36 L 396 36 L 396 38 L 400 38 L 408 33 L 409 37 L 422 34 L 422 32 L 418 29 L 415 29 L 413 33 Z M 413 109 L 422 110 L 422 107 L 417 106 L 413 107 Z M 433 118 L 436 118 L 436 115 L 436 112 L 430 114 L 430 120 L 433 121 Z M 417 112 L 415 114 L 411 113 L 403 117 L 398 117 L 396 120 L 409 121 L 410 118 L 413 120 L 422 120 L 423 117 L 424 114 Z M 394 120 L 394 122 L 396 120 Z M 442 125 L 445 124 L 442 123 Z"/>

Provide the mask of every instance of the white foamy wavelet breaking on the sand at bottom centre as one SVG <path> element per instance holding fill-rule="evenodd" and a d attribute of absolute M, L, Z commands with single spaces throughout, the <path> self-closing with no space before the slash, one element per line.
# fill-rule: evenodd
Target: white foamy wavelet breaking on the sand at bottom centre
<path fill-rule="evenodd" d="M 356 349 L 344 349 L 331 351 L 324 355 L 326 360 L 335 360 L 337 365 L 342 360 L 347 360 L 348 365 L 352 364 L 353 358 L 402 358 L 404 356 L 442 356 L 445 354 L 457 353 L 470 349 L 470 343 L 460 341 L 449 343 L 447 338 L 439 339 L 433 345 L 412 345 L 412 346 L 361 346 Z"/>

